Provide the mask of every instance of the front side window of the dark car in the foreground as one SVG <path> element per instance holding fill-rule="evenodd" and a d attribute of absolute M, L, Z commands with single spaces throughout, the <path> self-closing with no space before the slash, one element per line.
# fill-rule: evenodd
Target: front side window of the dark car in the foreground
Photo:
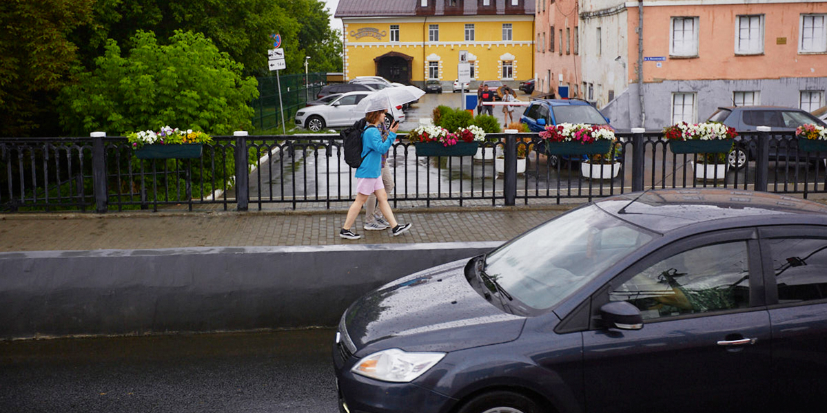
<path fill-rule="evenodd" d="M 706 245 L 664 259 L 609 293 L 628 301 L 643 320 L 749 306 L 745 241 Z"/>

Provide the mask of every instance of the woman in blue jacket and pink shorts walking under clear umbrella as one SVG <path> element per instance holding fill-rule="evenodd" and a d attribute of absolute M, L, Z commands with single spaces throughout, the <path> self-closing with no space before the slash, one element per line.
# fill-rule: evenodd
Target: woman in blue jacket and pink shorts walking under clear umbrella
<path fill-rule="evenodd" d="M 390 127 L 388 138 L 382 140 L 382 134 L 379 130 L 381 124 L 385 123 L 385 109 L 368 112 L 365 115 L 365 131 L 362 133 L 362 163 L 356 169 L 356 200 L 353 201 L 351 207 L 347 210 L 347 218 L 345 225 L 342 225 L 342 230 L 339 230 L 339 236 L 346 240 L 358 240 L 361 235 L 356 234 L 351 230 L 351 227 L 356 222 L 356 216 L 359 216 L 362 205 L 365 205 L 370 194 L 375 194 L 376 200 L 379 202 L 379 210 L 385 216 L 385 220 L 390 225 L 391 235 L 402 235 L 407 230 L 410 230 L 411 224 L 399 225 L 399 222 L 394 218 L 394 212 L 390 210 L 388 203 L 388 193 L 385 192 L 385 185 L 381 178 L 381 158 L 390 149 L 390 145 L 394 144 L 396 140 L 396 131 L 399 130 L 399 122 L 394 122 Z"/>

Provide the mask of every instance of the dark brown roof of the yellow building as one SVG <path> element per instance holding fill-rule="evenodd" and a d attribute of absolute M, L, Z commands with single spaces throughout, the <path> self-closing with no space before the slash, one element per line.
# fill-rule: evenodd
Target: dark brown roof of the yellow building
<path fill-rule="evenodd" d="M 476 16 L 534 15 L 534 0 L 519 0 L 519 7 L 510 0 L 491 0 L 490 11 L 480 12 L 476 0 L 457 0 L 461 10 L 446 11 L 445 0 L 428 0 L 431 7 L 419 7 L 419 0 L 339 0 L 333 17 L 404 17 L 404 16 Z"/>

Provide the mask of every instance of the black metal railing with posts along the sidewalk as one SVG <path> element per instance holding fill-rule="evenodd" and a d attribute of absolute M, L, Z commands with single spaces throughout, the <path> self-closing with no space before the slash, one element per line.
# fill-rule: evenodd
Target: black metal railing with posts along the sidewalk
<path fill-rule="evenodd" d="M 608 154 L 619 162 L 614 177 L 581 155 L 546 154 L 536 134 L 490 134 L 475 157 L 418 157 L 413 144 L 399 140 L 387 158 L 395 183 L 389 197 L 394 206 L 432 207 L 590 201 L 648 188 L 719 187 L 804 197 L 827 192 L 827 154 L 798 150 L 791 133 L 745 132 L 722 155 L 732 166 L 709 172 L 698 166 L 704 155 L 673 154 L 660 133 L 618 136 L 620 144 Z M 136 159 L 123 137 L 2 139 L 0 206 L 246 211 L 329 209 L 354 198 L 356 180 L 338 135 L 237 133 L 213 140 L 198 159 Z"/>

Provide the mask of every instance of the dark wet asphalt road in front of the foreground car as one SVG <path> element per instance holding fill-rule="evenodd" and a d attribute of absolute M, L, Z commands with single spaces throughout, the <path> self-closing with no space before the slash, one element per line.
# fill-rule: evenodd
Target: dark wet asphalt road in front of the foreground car
<path fill-rule="evenodd" d="M 0 412 L 337 413 L 334 330 L 0 342 Z"/>

